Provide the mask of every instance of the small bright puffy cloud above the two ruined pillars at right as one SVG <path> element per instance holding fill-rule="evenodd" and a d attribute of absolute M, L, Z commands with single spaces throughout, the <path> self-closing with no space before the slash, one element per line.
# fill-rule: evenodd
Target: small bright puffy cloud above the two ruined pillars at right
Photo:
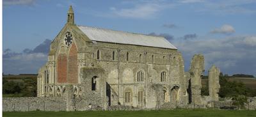
<path fill-rule="evenodd" d="M 223 34 L 230 34 L 230 33 L 234 33 L 235 29 L 233 26 L 230 26 L 228 24 L 225 24 L 223 26 L 221 26 L 220 28 L 217 29 L 213 29 L 211 31 L 211 33 L 223 33 Z"/>

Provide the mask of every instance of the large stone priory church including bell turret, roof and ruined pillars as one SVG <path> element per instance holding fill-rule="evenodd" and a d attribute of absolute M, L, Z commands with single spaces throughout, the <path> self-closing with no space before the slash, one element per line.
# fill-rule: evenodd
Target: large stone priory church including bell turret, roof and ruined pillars
<path fill-rule="evenodd" d="M 79 26 L 74 19 L 70 6 L 67 23 L 38 71 L 37 97 L 65 97 L 70 110 L 157 109 L 204 102 L 201 54 L 193 56 L 189 72 L 184 72 L 181 53 L 164 37 Z M 209 71 L 209 100 L 218 100 L 219 72 L 216 66 Z"/>

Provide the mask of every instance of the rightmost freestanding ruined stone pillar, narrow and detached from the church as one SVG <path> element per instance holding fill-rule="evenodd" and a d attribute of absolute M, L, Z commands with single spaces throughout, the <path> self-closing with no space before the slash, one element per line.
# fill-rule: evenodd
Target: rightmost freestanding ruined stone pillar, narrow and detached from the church
<path fill-rule="evenodd" d="M 220 69 L 216 66 L 212 66 L 208 72 L 209 75 L 209 96 L 211 100 L 218 101 L 219 95 L 218 92 L 220 90 Z"/>

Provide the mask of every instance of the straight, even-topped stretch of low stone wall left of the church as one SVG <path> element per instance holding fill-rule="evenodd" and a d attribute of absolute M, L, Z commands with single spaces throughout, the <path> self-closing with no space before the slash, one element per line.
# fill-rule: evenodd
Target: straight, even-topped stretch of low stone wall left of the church
<path fill-rule="evenodd" d="M 3 111 L 66 111 L 60 97 L 3 97 Z"/>

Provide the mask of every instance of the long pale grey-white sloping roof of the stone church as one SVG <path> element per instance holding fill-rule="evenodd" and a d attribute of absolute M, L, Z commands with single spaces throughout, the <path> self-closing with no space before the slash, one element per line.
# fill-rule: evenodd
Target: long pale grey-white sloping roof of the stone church
<path fill-rule="evenodd" d="M 86 36 L 88 36 L 88 38 L 90 38 L 90 40 L 93 41 L 177 49 L 172 45 L 172 43 L 168 42 L 168 40 L 161 36 L 127 33 L 123 31 L 113 31 L 111 29 L 101 29 L 88 26 L 78 27 Z"/>

